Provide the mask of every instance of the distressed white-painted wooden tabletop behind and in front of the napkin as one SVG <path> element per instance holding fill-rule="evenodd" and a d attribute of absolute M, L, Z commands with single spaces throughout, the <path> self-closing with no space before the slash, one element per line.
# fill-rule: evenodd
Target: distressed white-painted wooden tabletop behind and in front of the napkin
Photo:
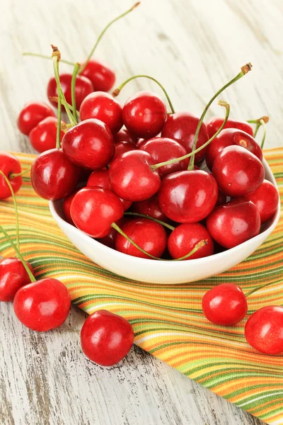
<path fill-rule="evenodd" d="M 6 0 L 0 11 L 0 148 L 33 152 L 16 118 L 23 103 L 45 100 L 52 74 L 47 60 L 22 57 L 30 50 L 83 60 L 110 18 L 129 0 Z M 270 115 L 267 147 L 282 145 L 282 0 L 143 0 L 101 42 L 97 57 L 117 72 L 160 79 L 176 110 L 200 115 L 205 103 L 241 65 L 253 72 L 222 96 L 234 118 Z M 63 69 L 69 69 L 62 65 Z M 137 89 L 132 82 L 121 100 Z M 212 113 L 223 113 L 216 104 Z M 83 312 L 72 308 L 64 327 L 37 334 L 21 326 L 11 304 L 0 305 L 0 423 L 98 425 L 251 425 L 253 418 L 157 361 L 139 348 L 112 368 L 100 368 L 80 350 Z"/>

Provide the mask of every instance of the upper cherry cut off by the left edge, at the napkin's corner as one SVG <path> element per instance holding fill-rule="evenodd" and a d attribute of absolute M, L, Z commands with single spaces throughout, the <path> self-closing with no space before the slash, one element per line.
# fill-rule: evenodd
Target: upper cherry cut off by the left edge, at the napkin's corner
<path fill-rule="evenodd" d="M 21 173 L 21 164 L 14 155 L 9 152 L 0 151 L 0 170 L 10 181 L 14 193 L 18 192 L 22 186 L 21 176 L 11 179 L 11 174 Z M 0 176 L 0 199 L 6 199 L 11 196 L 11 191 L 3 176 Z"/>

